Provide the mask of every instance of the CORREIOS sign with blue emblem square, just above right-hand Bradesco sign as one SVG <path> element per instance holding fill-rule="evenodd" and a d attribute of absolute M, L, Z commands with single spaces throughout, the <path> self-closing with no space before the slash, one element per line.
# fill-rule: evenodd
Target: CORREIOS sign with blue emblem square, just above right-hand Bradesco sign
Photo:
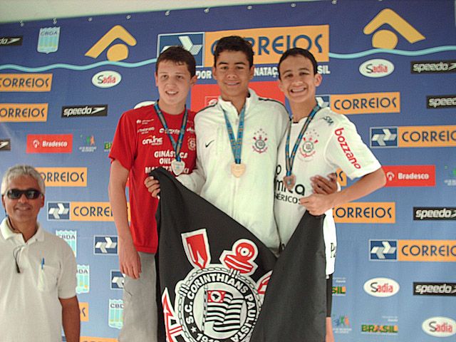
<path fill-rule="evenodd" d="M 455 147 L 456 125 L 371 127 L 371 147 Z"/>

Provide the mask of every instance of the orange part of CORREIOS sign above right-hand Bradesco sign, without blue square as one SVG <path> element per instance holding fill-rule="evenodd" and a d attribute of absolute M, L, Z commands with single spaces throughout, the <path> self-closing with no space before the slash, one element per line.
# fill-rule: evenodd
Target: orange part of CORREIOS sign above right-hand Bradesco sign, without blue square
<path fill-rule="evenodd" d="M 455 147 L 456 125 L 398 127 L 399 147 Z"/>

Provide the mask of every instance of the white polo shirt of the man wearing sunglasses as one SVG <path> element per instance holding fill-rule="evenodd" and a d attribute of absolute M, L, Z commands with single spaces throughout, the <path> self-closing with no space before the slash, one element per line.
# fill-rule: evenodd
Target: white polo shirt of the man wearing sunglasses
<path fill-rule="evenodd" d="M 39 224 L 36 234 L 24 242 L 7 222 L 0 224 L 0 342 L 61 341 L 58 299 L 76 296 L 73 251 Z"/>

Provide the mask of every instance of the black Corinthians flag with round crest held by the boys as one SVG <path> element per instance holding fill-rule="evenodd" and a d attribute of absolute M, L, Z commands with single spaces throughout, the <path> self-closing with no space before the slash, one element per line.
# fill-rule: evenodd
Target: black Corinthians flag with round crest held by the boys
<path fill-rule="evenodd" d="M 306 213 L 276 259 L 169 172 L 151 175 L 160 182 L 160 342 L 324 341 L 323 216 Z"/>

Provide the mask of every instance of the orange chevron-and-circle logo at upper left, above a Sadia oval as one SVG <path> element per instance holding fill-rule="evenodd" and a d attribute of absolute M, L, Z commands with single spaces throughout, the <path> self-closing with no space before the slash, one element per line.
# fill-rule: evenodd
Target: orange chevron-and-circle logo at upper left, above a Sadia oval
<path fill-rule="evenodd" d="M 128 46 L 135 46 L 136 39 L 133 37 L 130 32 L 125 30 L 123 26 L 116 25 L 111 28 L 99 41 L 95 43 L 87 52 L 86 55 L 91 58 L 98 58 L 100 54 L 107 48 L 110 43 L 113 43 L 116 39 L 121 39 L 128 44 Z M 106 52 L 106 57 L 108 61 L 123 61 L 128 58 L 128 46 L 122 43 L 115 44 L 108 48 Z"/>

